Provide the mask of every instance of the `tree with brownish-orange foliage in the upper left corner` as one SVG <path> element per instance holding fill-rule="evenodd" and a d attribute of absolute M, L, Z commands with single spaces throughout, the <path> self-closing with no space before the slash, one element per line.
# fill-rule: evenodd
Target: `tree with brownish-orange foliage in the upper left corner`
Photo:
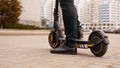
<path fill-rule="evenodd" d="M 0 25 L 16 24 L 19 21 L 21 8 L 19 0 L 0 0 Z"/>

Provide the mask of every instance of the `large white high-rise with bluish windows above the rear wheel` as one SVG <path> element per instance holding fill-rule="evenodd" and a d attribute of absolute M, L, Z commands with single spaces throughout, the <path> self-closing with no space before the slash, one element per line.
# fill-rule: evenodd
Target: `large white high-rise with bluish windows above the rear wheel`
<path fill-rule="evenodd" d="M 120 0 L 91 0 L 89 23 L 85 29 L 116 30 L 120 28 Z"/>

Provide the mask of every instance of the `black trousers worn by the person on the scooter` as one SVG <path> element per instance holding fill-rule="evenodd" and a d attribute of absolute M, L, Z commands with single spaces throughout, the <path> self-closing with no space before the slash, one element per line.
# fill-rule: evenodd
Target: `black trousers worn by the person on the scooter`
<path fill-rule="evenodd" d="M 80 22 L 78 21 L 78 14 L 74 5 L 74 0 L 60 0 L 60 6 L 62 8 L 65 27 L 65 44 L 68 47 L 75 47 L 75 39 L 80 35 Z"/>

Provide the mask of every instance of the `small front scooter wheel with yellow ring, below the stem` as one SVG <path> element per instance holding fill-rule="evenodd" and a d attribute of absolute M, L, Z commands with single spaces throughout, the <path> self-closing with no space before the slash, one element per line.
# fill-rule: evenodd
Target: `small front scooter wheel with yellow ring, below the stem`
<path fill-rule="evenodd" d="M 60 46 L 59 37 L 55 32 L 50 32 L 48 36 L 50 46 L 54 49 Z"/>

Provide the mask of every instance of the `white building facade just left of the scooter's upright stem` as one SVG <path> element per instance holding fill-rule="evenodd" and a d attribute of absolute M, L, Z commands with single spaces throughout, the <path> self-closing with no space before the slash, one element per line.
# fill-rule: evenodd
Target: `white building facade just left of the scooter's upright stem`
<path fill-rule="evenodd" d="M 47 19 L 50 22 L 53 21 L 55 0 L 44 0 L 41 3 L 41 19 Z"/>

